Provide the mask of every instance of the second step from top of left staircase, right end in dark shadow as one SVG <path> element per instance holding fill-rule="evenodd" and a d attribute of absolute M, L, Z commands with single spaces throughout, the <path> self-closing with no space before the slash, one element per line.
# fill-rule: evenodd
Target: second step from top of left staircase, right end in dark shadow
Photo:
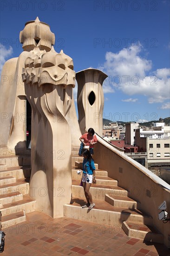
<path fill-rule="evenodd" d="M 31 176 L 31 168 L 30 167 L 9 167 L 7 170 L 0 171 L 0 176 L 13 176 L 16 179 L 24 179 Z"/>

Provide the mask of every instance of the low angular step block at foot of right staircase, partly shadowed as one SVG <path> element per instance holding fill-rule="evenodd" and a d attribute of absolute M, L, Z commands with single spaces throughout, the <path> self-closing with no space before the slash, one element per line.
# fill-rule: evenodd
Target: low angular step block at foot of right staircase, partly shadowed
<path fill-rule="evenodd" d="M 122 223 L 122 229 L 127 236 L 150 241 L 152 243 L 163 243 L 163 235 L 158 233 L 157 230 L 150 225 L 130 222 L 128 220 Z"/>

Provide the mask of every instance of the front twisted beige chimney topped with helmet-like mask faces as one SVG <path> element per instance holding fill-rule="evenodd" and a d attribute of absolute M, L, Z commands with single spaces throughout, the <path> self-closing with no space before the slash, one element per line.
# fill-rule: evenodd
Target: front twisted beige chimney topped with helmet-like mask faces
<path fill-rule="evenodd" d="M 30 195 L 37 210 L 63 216 L 72 185 L 71 129 L 65 119 L 75 86 L 72 59 L 53 48 L 47 53 L 35 48 L 25 61 L 22 78 L 33 109 Z"/>

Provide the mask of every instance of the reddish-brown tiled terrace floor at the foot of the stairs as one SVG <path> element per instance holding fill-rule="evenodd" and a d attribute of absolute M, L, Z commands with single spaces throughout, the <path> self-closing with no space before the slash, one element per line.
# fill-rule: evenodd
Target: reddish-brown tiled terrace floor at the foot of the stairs
<path fill-rule="evenodd" d="M 162 244 L 143 242 L 125 235 L 118 226 L 82 222 L 66 217 L 52 219 L 43 213 L 26 215 L 27 221 L 3 231 L 2 256 L 94 255 L 168 256 Z"/>

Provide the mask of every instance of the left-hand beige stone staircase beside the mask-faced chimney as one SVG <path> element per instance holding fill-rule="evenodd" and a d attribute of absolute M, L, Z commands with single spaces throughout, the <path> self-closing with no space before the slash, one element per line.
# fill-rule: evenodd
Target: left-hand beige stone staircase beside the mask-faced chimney
<path fill-rule="evenodd" d="M 30 157 L 1 155 L 0 211 L 1 228 L 26 221 L 26 213 L 35 211 L 36 201 L 29 196 Z"/>

